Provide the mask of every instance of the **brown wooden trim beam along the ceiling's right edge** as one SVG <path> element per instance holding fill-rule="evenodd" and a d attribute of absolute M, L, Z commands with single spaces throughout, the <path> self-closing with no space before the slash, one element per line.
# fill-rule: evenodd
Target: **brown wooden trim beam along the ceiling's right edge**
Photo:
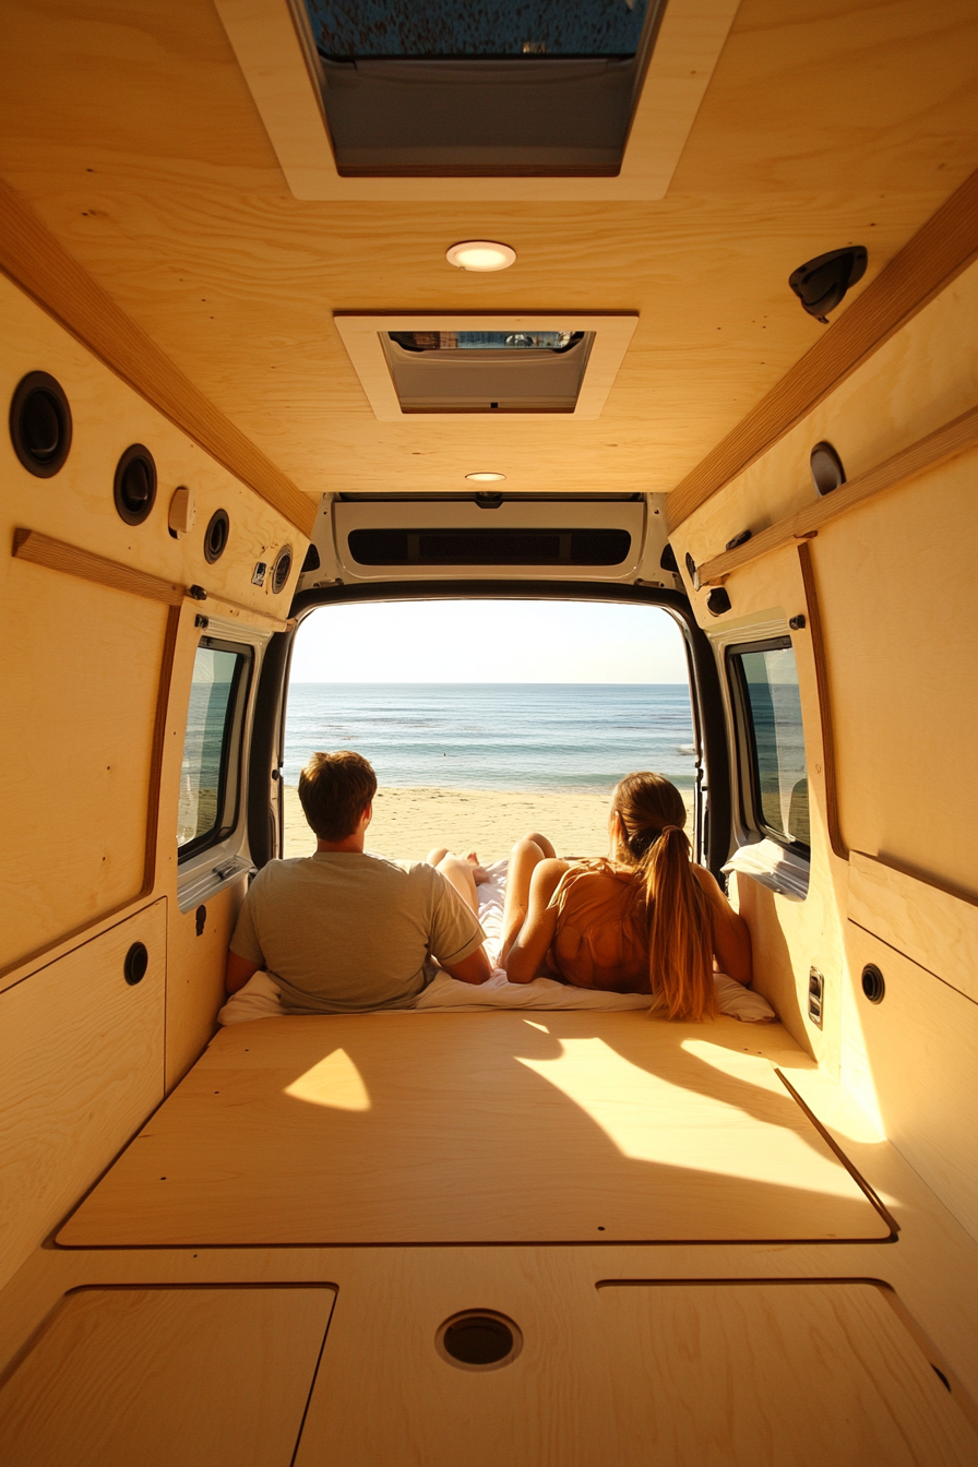
<path fill-rule="evenodd" d="M 965 179 L 801 361 L 673 489 L 670 533 L 801 422 L 978 258 L 978 172 Z"/>

